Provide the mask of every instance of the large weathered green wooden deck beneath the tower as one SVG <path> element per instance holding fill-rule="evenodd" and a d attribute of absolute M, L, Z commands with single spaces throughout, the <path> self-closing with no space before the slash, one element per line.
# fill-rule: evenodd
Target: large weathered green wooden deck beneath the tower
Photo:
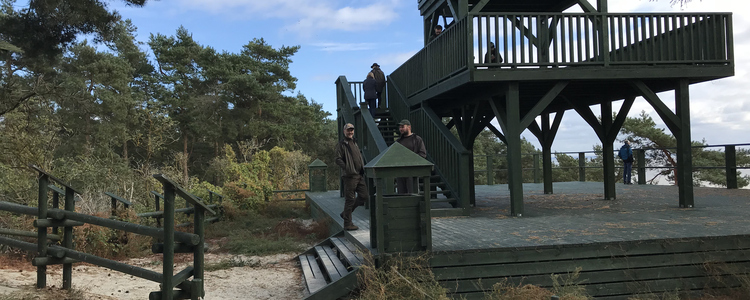
<path fill-rule="evenodd" d="M 695 188 L 695 208 L 681 209 L 676 186 L 620 184 L 617 200 L 602 200 L 597 182 L 555 183 L 552 195 L 542 184 L 523 187 L 525 217 L 509 217 L 507 185 L 493 185 L 476 186 L 471 216 L 432 219 L 433 272 L 454 297 L 482 299 L 505 279 L 549 287 L 550 274 L 577 267 L 596 299 L 731 288 L 731 274 L 750 273 L 750 190 Z M 308 193 L 332 230 L 342 227 L 338 195 Z M 358 208 L 360 230 L 347 237 L 371 249 L 368 217 Z"/>

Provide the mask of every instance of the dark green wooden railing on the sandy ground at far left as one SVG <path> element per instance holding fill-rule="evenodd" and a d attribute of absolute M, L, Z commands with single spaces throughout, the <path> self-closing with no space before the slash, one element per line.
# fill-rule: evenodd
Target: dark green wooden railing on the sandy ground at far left
<path fill-rule="evenodd" d="M 109 268 L 125 274 L 133 275 L 146 280 L 160 283 L 161 290 L 152 292 L 149 299 L 199 299 L 205 296 L 203 289 L 203 265 L 204 265 L 204 220 L 206 212 L 215 214 L 202 201 L 186 192 L 179 185 L 161 174 L 154 175 L 164 186 L 164 228 L 149 227 L 128 222 L 101 218 L 75 212 L 75 194 L 78 191 L 67 185 L 60 179 L 32 166 L 39 173 L 39 200 L 37 207 L 29 207 L 20 204 L 0 201 L 0 210 L 18 214 L 34 215 L 38 219 L 34 221 L 34 227 L 38 228 L 36 233 L 37 243 L 24 242 L 12 238 L 0 237 L 0 244 L 19 248 L 22 250 L 36 252 L 37 257 L 32 260 L 32 265 L 37 267 L 37 288 L 47 285 L 47 266 L 63 265 L 64 289 L 71 288 L 72 264 L 75 262 L 87 262 L 93 265 Z M 64 209 L 48 208 L 48 192 L 50 181 L 62 185 L 64 190 Z M 57 192 L 57 191 L 56 191 Z M 174 229 L 174 213 L 176 196 L 186 199 L 193 205 L 195 210 L 193 233 L 178 232 Z M 136 233 L 155 237 L 161 243 L 154 244 L 154 253 L 163 253 L 163 272 L 155 272 L 140 267 L 128 265 L 118 261 L 101 258 L 88 253 L 75 250 L 73 245 L 73 226 L 92 224 L 115 230 Z M 49 227 L 63 227 L 63 236 L 48 234 Z M 4 232 L 3 234 L 29 236 L 30 232 Z M 62 240 L 61 246 L 48 245 L 48 239 Z M 174 273 L 174 254 L 193 253 L 193 266 Z M 192 280 L 190 278 L 192 277 Z M 175 290 L 175 287 L 177 290 Z"/>

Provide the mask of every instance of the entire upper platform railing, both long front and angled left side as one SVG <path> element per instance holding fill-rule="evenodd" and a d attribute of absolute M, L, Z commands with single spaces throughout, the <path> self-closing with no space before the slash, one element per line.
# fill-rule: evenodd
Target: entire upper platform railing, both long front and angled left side
<path fill-rule="evenodd" d="M 733 64 L 732 34 L 731 13 L 470 14 L 390 78 L 411 97 L 478 67 Z M 490 42 L 503 62 L 485 60 Z"/>

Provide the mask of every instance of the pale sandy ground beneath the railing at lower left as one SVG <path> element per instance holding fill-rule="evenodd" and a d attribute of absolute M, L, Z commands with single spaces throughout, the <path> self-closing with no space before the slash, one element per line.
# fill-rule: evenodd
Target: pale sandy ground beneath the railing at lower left
<path fill-rule="evenodd" d="M 233 267 L 206 272 L 204 299 L 302 299 L 302 275 L 294 254 L 262 257 L 229 254 L 206 254 L 206 262 L 232 261 Z M 160 257 L 132 259 L 126 263 L 161 272 Z M 0 265 L 0 298 L 8 293 L 19 293 L 36 285 L 36 269 L 26 262 Z M 187 264 L 178 263 L 175 273 Z M 50 267 L 47 285 L 62 285 L 62 268 Z M 148 299 L 159 290 L 156 282 L 112 271 L 89 264 L 73 265 L 73 288 L 82 291 L 85 299 Z M 33 291 L 33 289 L 31 289 Z"/>

